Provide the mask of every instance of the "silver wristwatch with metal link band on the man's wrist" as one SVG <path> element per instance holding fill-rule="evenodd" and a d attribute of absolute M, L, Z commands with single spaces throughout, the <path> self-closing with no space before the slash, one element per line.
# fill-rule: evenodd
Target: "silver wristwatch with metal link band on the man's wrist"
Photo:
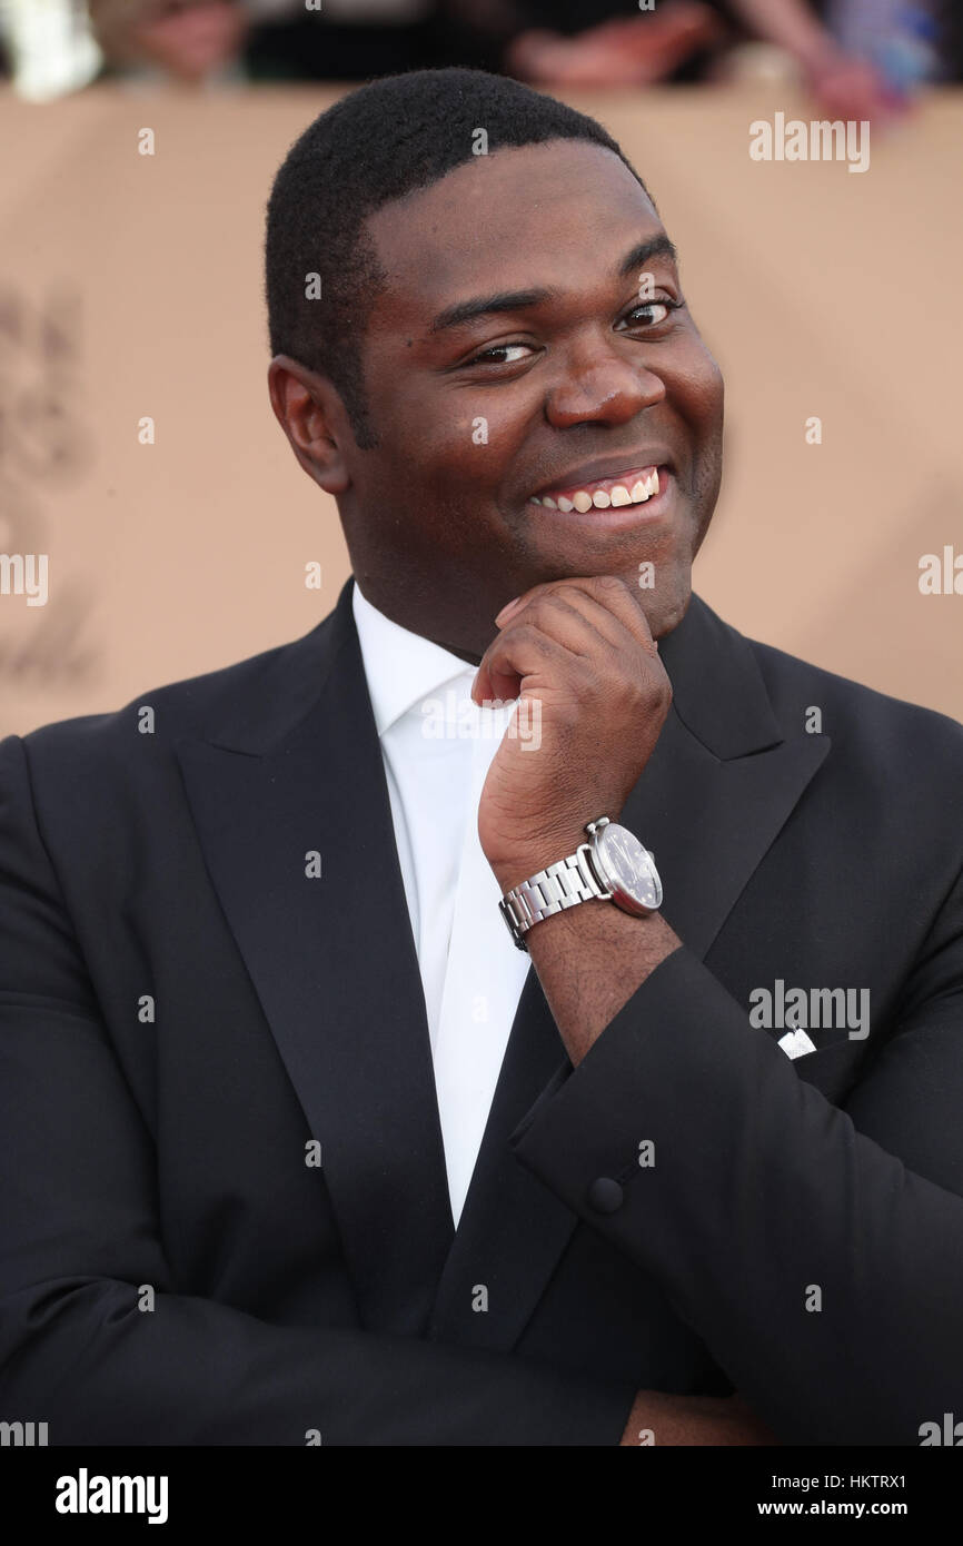
<path fill-rule="evenodd" d="M 614 901 L 623 912 L 645 918 L 662 906 L 662 881 L 655 860 L 634 832 L 600 816 L 589 821 L 590 843 L 567 858 L 519 881 L 499 901 L 501 914 L 519 951 L 524 935 L 543 918 L 580 901 Z"/>

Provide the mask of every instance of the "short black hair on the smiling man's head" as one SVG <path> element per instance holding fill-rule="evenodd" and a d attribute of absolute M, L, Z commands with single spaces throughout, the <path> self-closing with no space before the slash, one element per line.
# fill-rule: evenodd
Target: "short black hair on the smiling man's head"
<path fill-rule="evenodd" d="M 351 91 L 288 152 L 267 201 L 264 277 L 271 352 L 288 354 L 337 388 L 356 441 L 377 444 L 365 394 L 362 343 L 385 288 L 365 221 L 382 204 L 430 187 L 471 161 L 487 135 L 510 145 L 583 139 L 612 150 L 594 117 L 484 70 L 413 70 Z M 648 195 L 651 198 L 651 195 Z M 309 275 L 320 275 L 320 300 Z M 317 284 L 315 284 L 317 294 Z"/>

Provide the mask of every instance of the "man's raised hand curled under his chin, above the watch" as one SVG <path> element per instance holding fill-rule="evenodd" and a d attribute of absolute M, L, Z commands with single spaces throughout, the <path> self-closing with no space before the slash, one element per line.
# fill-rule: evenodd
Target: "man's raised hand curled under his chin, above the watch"
<path fill-rule="evenodd" d="M 521 702 L 488 768 L 478 835 L 509 890 L 587 841 L 587 821 L 618 818 L 672 688 L 637 594 L 617 575 L 533 586 L 495 621 L 471 697 Z"/>

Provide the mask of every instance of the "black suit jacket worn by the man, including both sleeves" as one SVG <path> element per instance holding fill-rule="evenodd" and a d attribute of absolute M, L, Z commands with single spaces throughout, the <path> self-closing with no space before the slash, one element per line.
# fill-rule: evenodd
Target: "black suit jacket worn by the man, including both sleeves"
<path fill-rule="evenodd" d="M 621 821 L 683 949 L 575 1071 L 529 971 L 458 1232 L 351 581 L 295 643 L 0 745 L 5 1418 L 617 1444 L 640 1388 L 733 1387 L 784 1442 L 963 1416 L 963 731 L 697 598 L 662 654 Z M 870 1034 L 790 1061 L 750 1025 L 779 979 L 867 988 Z"/>

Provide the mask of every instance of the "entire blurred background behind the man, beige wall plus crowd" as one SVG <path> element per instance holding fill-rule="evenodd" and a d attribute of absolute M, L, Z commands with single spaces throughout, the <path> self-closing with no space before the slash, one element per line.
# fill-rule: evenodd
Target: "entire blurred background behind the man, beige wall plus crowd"
<path fill-rule="evenodd" d="M 451 63 L 592 113 L 652 189 L 727 377 L 696 589 L 963 717 L 961 9 L 0 0 L 0 734 L 331 609 L 337 509 L 267 400 L 264 203 L 352 83 Z M 869 122 L 869 169 L 753 159 L 776 114 Z"/>

